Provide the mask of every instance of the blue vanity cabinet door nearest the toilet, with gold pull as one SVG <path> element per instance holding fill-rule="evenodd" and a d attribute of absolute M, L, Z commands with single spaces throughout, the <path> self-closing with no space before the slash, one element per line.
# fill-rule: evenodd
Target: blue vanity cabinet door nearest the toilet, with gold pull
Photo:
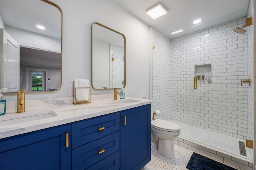
<path fill-rule="evenodd" d="M 120 112 L 121 170 L 140 170 L 151 159 L 150 109 L 149 104 Z"/>

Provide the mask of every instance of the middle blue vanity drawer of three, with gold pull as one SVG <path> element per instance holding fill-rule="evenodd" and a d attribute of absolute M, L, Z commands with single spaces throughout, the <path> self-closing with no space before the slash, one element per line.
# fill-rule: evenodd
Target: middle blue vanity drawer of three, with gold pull
<path fill-rule="evenodd" d="M 84 170 L 89 168 L 90 166 L 115 153 L 119 149 L 119 131 L 80 146 L 72 150 L 72 169 Z M 100 151 L 102 152 L 100 153 Z"/>

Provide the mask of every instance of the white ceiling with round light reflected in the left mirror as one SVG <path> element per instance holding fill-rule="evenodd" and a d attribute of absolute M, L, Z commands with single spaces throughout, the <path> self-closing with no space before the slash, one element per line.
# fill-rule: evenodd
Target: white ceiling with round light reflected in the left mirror
<path fill-rule="evenodd" d="M 0 0 L 0 15 L 7 26 L 61 39 L 61 12 L 41 0 Z"/>

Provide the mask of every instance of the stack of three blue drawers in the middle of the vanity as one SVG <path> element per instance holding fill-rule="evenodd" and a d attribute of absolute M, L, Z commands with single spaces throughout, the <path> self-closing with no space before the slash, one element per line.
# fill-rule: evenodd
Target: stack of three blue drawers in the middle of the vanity
<path fill-rule="evenodd" d="M 72 123 L 72 170 L 120 169 L 120 112 Z"/>

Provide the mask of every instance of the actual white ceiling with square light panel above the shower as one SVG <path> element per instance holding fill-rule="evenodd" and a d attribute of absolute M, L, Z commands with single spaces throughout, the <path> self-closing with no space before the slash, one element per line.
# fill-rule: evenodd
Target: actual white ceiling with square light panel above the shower
<path fill-rule="evenodd" d="M 168 38 L 188 34 L 192 22 L 201 19 L 202 23 L 192 27 L 198 31 L 244 17 L 249 0 L 114 0 L 146 24 L 156 28 Z M 146 10 L 161 3 L 168 11 L 160 18 L 152 19 Z M 125 22 L 125 21 L 124 21 Z M 171 32 L 183 29 L 184 32 L 172 35 Z M 187 32 L 186 32 L 187 30 Z"/>

